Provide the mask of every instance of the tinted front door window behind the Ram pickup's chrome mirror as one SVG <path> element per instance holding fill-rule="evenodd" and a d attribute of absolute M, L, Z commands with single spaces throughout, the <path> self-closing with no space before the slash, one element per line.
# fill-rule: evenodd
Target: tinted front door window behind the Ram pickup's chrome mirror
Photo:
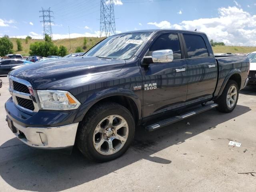
<path fill-rule="evenodd" d="M 165 33 L 160 35 L 149 49 L 149 55 L 152 55 L 153 51 L 171 49 L 173 51 L 173 59 L 181 59 L 180 41 L 178 34 Z"/>

